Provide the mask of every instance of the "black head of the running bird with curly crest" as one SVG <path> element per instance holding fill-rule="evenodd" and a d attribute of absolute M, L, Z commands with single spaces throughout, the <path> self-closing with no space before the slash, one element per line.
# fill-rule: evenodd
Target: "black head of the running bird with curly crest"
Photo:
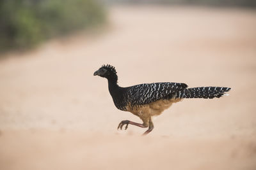
<path fill-rule="evenodd" d="M 116 76 L 116 69 L 115 67 L 107 64 L 107 65 L 103 65 L 102 67 L 100 67 L 97 71 L 95 71 L 93 73 L 93 76 L 101 76 L 104 78 L 108 78 L 108 79 L 116 79 L 117 81 L 117 76 Z"/>

